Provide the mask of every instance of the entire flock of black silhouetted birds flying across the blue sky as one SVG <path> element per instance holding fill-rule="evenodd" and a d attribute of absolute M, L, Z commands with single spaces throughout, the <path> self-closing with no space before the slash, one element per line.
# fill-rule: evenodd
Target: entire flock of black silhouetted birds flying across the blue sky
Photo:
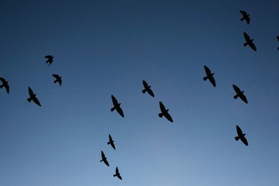
<path fill-rule="evenodd" d="M 245 11 L 240 11 L 240 13 L 243 15 L 243 17 L 241 18 L 241 21 L 246 20 L 247 24 L 250 24 L 250 15 L 248 13 L 246 13 Z M 247 45 L 250 46 L 251 49 L 253 49 L 254 51 L 257 51 L 257 48 L 255 46 L 255 44 L 253 43 L 253 39 L 250 39 L 250 36 L 248 36 L 247 33 L 243 32 L 244 38 L 246 40 L 245 43 L 243 43 L 243 45 L 246 47 Z M 279 41 L 279 36 L 277 36 L 277 39 Z M 279 47 L 278 47 L 279 50 Z M 53 63 L 53 59 L 54 56 L 45 56 L 45 58 L 47 59 L 47 61 L 45 61 L 46 63 L 49 63 L 48 66 L 50 66 Z M 211 70 L 204 65 L 204 70 L 206 72 L 206 76 L 203 78 L 204 81 L 206 81 L 207 79 L 209 79 L 209 82 L 211 82 L 211 84 L 213 85 L 213 87 L 216 87 L 216 80 L 214 79 L 213 75 L 214 73 L 211 73 Z M 62 78 L 59 75 L 53 74 L 52 75 L 55 80 L 54 80 L 54 84 L 56 84 L 57 82 L 59 83 L 59 85 L 61 86 L 62 84 Z M 6 81 L 6 79 L 4 79 L 3 77 L 0 77 L 0 81 L 2 82 L 0 88 L 6 88 L 6 92 L 9 93 L 10 92 L 10 86 L 8 84 L 8 81 Z M 144 89 L 142 90 L 142 93 L 149 93 L 149 95 L 151 95 L 151 97 L 155 97 L 153 91 L 151 90 L 151 86 L 149 86 L 149 84 L 147 84 L 146 81 L 142 81 L 142 84 L 144 86 Z M 236 86 L 236 85 L 232 85 L 232 87 L 234 88 L 234 91 L 236 93 L 236 95 L 234 95 L 234 99 L 240 98 L 241 100 L 243 100 L 243 102 L 246 102 L 246 104 L 248 104 L 248 100 L 246 98 L 246 95 L 244 95 L 244 91 L 241 91 L 241 89 Z M 33 100 L 34 103 L 38 104 L 38 106 L 41 107 L 41 104 L 38 100 L 38 98 L 36 97 L 36 93 L 33 93 L 33 90 L 29 87 L 29 98 L 27 98 L 28 102 L 31 102 Z M 114 95 L 112 95 L 112 104 L 113 107 L 111 109 L 111 111 L 116 110 L 120 116 L 122 116 L 124 118 L 124 113 L 122 108 L 120 107 L 121 103 L 119 103 L 116 98 L 114 97 Z M 160 113 L 158 114 L 158 116 L 160 118 L 162 118 L 163 116 L 165 116 L 165 118 L 167 118 L 168 121 L 173 123 L 173 119 L 172 116 L 170 116 L 169 114 L 169 109 L 165 108 L 165 105 L 163 104 L 163 102 L 159 102 L 159 107 L 160 107 Z M 236 133 L 237 136 L 235 137 L 235 140 L 238 141 L 239 139 L 241 139 L 241 141 L 243 142 L 243 144 L 245 144 L 246 146 L 248 146 L 248 141 L 245 137 L 246 134 L 243 134 L 241 128 L 239 127 L 239 125 L 236 125 Z M 112 146 L 112 148 L 114 150 L 116 150 L 115 148 L 115 144 L 114 144 L 114 140 L 112 139 L 112 136 L 109 134 L 109 141 L 107 142 L 107 145 Z M 107 157 L 105 156 L 105 153 L 103 153 L 103 150 L 101 150 L 101 158 L 102 160 L 100 160 L 100 162 L 104 162 L 107 166 L 110 166 L 109 162 L 107 161 Z M 119 178 L 120 180 L 122 180 L 122 177 L 119 173 L 119 169 L 116 166 L 116 170 L 115 170 L 115 174 L 113 175 L 114 177 Z"/>

